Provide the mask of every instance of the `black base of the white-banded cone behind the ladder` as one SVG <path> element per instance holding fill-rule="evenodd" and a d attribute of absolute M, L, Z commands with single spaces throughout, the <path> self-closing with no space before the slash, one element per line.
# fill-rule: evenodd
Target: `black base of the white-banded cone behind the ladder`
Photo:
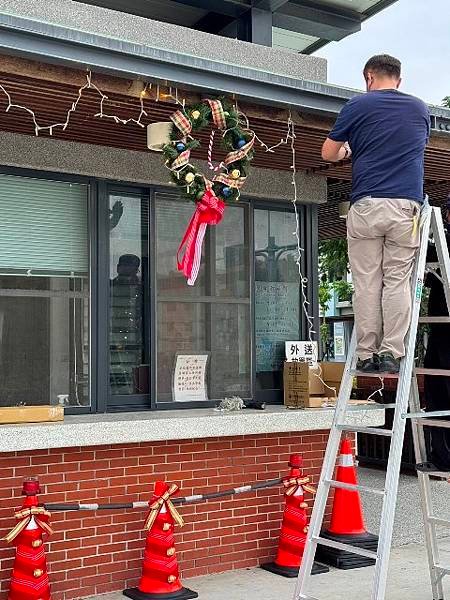
<path fill-rule="evenodd" d="M 335 542 L 341 542 L 342 544 L 351 544 L 357 548 L 364 548 L 365 550 L 377 551 L 378 536 L 372 533 L 361 533 L 355 535 L 338 535 L 330 533 L 329 531 L 322 531 L 321 537 Z M 366 558 L 365 556 L 358 556 L 358 554 L 352 554 L 345 550 L 338 550 L 337 548 L 329 548 L 319 544 L 317 547 L 317 557 L 327 565 L 336 567 L 337 569 L 359 569 L 361 567 L 369 567 L 375 564 L 373 558 Z"/>

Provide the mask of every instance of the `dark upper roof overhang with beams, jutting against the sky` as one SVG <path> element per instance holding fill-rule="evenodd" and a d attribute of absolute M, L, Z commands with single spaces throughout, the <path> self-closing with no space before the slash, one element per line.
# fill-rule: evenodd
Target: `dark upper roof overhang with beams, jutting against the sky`
<path fill-rule="evenodd" d="M 274 45 L 309 54 L 359 31 L 363 21 L 397 0 L 77 1 L 223 35 L 230 35 L 232 24 L 252 10 L 266 11 Z"/>

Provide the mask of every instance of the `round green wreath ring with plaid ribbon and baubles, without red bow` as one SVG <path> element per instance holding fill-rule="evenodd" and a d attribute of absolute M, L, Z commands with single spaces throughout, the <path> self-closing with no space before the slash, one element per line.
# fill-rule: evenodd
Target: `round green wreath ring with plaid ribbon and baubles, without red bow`
<path fill-rule="evenodd" d="M 194 202 L 202 200 L 207 191 L 224 202 L 237 200 L 253 158 L 255 134 L 248 127 L 242 127 L 236 108 L 224 99 L 205 100 L 176 111 L 171 121 L 170 142 L 163 147 L 163 154 L 174 183 L 185 188 L 185 193 Z M 215 175 L 209 179 L 190 163 L 190 155 L 200 146 L 192 134 L 211 125 L 214 129 L 208 148 L 208 165 Z M 222 136 L 227 155 L 214 166 L 212 149 L 216 132 Z"/>

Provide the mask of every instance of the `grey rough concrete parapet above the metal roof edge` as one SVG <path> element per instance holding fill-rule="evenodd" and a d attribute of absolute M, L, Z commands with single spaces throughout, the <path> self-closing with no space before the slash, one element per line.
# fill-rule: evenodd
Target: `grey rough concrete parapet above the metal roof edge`
<path fill-rule="evenodd" d="M 192 64 L 197 58 L 203 58 L 223 62 L 229 69 L 249 67 L 313 81 L 327 79 L 327 61 L 317 56 L 194 32 L 187 27 L 73 0 L 0 0 L 0 12 L 66 27 L 78 32 L 78 37 L 91 41 L 94 41 L 92 36 L 100 36 L 107 45 L 110 41 L 111 45 L 119 42 L 125 47 L 128 42 L 136 46 L 136 55 L 145 48 L 154 48 L 183 53 Z M 87 37 L 80 32 L 88 34 Z"/>

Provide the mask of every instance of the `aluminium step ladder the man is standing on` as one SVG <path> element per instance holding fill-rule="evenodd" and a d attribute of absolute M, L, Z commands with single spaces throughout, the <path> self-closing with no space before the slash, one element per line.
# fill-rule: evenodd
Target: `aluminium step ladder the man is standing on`
<path fill-rule="evenodd" d="M 427 265 L 426 256 L 430 235 L 433 236 L 433 240 L 436 245 L 438 263 L 428 263 Z M 421 411 L 416 379 L 416 374 L 418 374 L 418 372 L 448 377 L 450 376 L 450 370 L 415 369 L 414 366 L 415 345 L 417 328 L 420 321 L 420 305 L 424 277 L 427 271 L 431 270 L 436 273 L 437 268 L 440 269 L 440 278 L 444 284 L 447 309 L 450 314 L 450 258 L 445 240 L 442 215 L 438 208 L 432 208 L 428 205 L 428 203 L 426 203 L 421 215 L 421 242 L 412 275 L 411 288 L 413 301 L 410 328 L 406 339 L 406 353 L 405 357 L 400 362 L 400 372 L 398 375 L 395 375 L 395 377 L 398 377 L 398 386 L 393 426 L 392 429 L 382 429 L 376 427 L 351 426 L 346 424 L 347 412 L 350 410 L 353 412 L 355 409 L 360 409 L 362 411 L 367 410 L 363 406 L 352 406 L 351 408 L 348 406 L 348 401 L 352 391 L 353 377 L 355 374 L 357 374 L 355 371 L 357 357 L 355 352 L 356 336 L 354 332 L 350 342 L 348 358 L 342 377 L 333 424 L 331 426 L 328 445 L 325 452 L 324 463 L 322 466 L 314 508 L 311 515 L 311 522 L 307 534 L 305 552 L 303 554 L 297 584 L 295 587 L 294 600 L 317 600 L 316 598 L 308 595 L 308 588 L 311 578 L 311 569 L 318 544 L 374 559 L 375 575 L 370 599 L 385 599 L 406 419 L 412 419 L 413 440 L 417 463 L 423 463 L 426 461 L 424 427 L 450 426 L 450 421 L 446 422 L 436 419 L 437 417 L 443 416 L 450 417 L 450 410 L 428 413 Z M 436 317 L 432 317 L 432 319 L 434 318 Z M 439 322 L 450 323 L 450 317 L 439 317 L 439 319 L 442 319 Z M 428 320 L 425 318 L 424 321 L 430 322 L 430 318 L 428 318 Z M 364 374 L 364 376 L 366 377 L 367 374 Z M 378 374 L 374 374 L 374 376 L 379 377 Z M 383 374 L 383 377 L 384 376 L 385 375 Z M 408 408 L 410 409 L 409 412 Z M 391 438 L 384 489 L 372 489 L 359 485 L 341 484 L 333 479 L 341 437 L 343 434 L 345 434 L 345 432 L 363 432 L 371 435 L 389 436 Z M 450 477 L 450 473 L 439 474 L 418 471 L 419 492 L 425 524 L 425 540 L 430 567 L 433 600 L 444 600 L 442 579 L 444 575 L 450 574 L 450 565 L 444 566 L 440 562 L 436 527 L 443 526 L 450 530 L 450 520 L 446 521 L 443 519 L 438 519 L 433 515 L 430 490 L 430 477 L 433 475 L 448 478 Z M 345 487 L 345 489 L 348 490 L 364 491 L 382 496 L 383 505 L 381 511 L 378 548 L 376 552 L 321 537 L 328 495 L 332 488 L 337 487 Z M 367 598 L 369 598 L 369 595 Z M 352 598 L 351 594 L 349 594 L 348 600 L 357 599 Z M 358 598 L 358 600 L 360 599 Z"/>

